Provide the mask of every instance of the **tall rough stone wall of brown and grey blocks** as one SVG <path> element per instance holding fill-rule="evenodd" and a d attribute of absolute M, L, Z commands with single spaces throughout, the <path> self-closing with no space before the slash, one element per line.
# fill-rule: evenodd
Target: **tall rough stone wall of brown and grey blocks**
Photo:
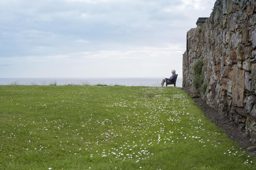
<path fill-rule="evenodd" d="M 256 0 L 217 0 L 204 25 L 187 32 L 183 87 L 193 88 L 199 59 L 207 84 L 201 97 L 256 143 Z"/>

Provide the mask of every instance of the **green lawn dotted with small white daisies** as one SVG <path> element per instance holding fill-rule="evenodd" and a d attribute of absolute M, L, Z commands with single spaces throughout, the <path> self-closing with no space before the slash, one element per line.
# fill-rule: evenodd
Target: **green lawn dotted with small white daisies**
<path fill-rule="evenodd" d="M 177 87 L 0 86 L 0 169 L 255 169 Z"/>

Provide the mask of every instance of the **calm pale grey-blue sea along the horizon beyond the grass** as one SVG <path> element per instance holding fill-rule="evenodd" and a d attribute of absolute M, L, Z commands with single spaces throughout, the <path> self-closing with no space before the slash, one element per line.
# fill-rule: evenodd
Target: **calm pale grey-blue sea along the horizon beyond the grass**
<path fill-rule="evenodd" d="M 160 86 L 162 79 L 163 78 L 0 78 L 0 85 L 49 85 L 56 82 L 57 85 L 106 84 L 110 86 Z M 177 78 L 176 86 L 182 87 L 182 77 Z"/>

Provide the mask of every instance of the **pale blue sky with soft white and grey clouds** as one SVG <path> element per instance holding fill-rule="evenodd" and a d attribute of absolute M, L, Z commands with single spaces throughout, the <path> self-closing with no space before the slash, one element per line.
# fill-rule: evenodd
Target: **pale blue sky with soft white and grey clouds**
<path fill-rule="evenodd" d="M 0 0 L 1 78 L 182 76 L 215 0 Z"/>

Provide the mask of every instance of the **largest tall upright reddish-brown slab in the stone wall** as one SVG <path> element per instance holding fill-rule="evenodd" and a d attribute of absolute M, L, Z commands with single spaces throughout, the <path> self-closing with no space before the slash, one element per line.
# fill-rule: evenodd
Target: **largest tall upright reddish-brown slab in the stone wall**
<path fill-rule="evenodd" d="M 240 70 L 233 66 L 232 76 L 232 94 L 233 104 L 238 107 L 244 107 L 244 70 Z"/>

